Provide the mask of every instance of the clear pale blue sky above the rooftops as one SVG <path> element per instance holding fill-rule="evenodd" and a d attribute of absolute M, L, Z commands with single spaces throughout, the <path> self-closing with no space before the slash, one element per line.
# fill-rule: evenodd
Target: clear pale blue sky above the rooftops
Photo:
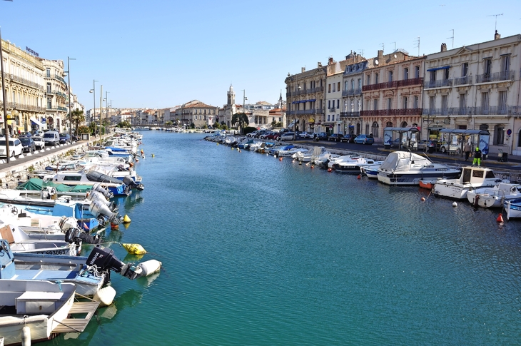
<path fill-rule="evenodd" d="M 435 53 L 521 34 L 521 1 L 0 1 L 2 39 L 42 58 L 71 61 L 71 86 L 86 109 L 96 83 L 113 108 L 166 108 L 198 99 L 275 103 L 284 79 L 363 51 Z"/>

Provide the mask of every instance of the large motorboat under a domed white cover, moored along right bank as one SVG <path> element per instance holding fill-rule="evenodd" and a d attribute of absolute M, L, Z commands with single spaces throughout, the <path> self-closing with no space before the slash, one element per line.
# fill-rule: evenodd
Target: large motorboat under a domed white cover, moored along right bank
<path fill-rule="evenodd" d="M 408 151 L 395 151 L 378 168 L 378 181 L 388 185 L 418 185 L 420 180 L 452 179 L 459 174 L 459 168 L 433 163 Z"/>

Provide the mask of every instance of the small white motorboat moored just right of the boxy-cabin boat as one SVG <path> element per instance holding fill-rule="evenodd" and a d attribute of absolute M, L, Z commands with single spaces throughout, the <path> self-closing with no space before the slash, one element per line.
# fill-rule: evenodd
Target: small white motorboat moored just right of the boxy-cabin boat
<path fill-rule="evenodd" d="M 501 208 L 505 201 L 521 198 L 521 185 L 499 183 L 491 188 L 468 190 L 467 200 L 482 208 Z"/>

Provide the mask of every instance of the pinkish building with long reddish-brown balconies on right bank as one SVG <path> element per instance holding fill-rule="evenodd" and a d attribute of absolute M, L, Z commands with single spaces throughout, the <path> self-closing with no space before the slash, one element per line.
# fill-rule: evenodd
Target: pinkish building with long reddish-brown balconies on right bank
<path fill-rule="evenodd" d="M 425 56 L 397 49 L 378 51 L 373 67 L 363 73 L 362 132 L 383 143 L 383 128 L 421 126 Z"/>

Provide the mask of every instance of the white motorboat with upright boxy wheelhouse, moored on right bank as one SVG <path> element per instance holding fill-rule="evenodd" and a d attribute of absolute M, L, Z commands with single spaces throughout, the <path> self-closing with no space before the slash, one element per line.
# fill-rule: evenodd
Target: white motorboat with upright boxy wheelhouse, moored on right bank
<path fill-rule="evenodd" d="M 467 192 L 474 188 L 491 188 L 510 180 L 496 178 L 490 168 L 480 166 L 463 167 L 460 178 L 438 179 L 433 188 L 434 195 L 461 200 L 467 198 Z"/>

